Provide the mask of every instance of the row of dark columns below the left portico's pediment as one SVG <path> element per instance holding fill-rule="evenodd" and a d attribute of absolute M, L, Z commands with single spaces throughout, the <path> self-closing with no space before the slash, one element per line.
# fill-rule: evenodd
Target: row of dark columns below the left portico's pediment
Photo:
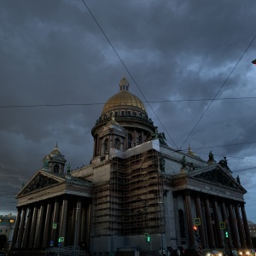
<path fill-rule="evenodd" d="M 76 201 L 76 203 L 73 203 Z M 64 237 L 61 246 L 71 245 L 90 239 L 90 204 L 82 204 L 81 198 L 61 196 L 48 201 L 18 207 L 12 249 L 57 247 L 58 237 Z M 73 212 L 73 236 L 68 234 L 68 211 Z M 53 229 L 53 224 L 56 229 Z M 69 232 L 68 232 L 69 233 Z M 75 239 L 73 240 L 73 238 Z"/>

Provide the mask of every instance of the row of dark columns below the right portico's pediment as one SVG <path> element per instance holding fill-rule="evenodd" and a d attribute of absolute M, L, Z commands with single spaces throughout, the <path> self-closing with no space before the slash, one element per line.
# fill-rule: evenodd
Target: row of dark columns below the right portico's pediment
<path fill-rule="evenodd" d="M 189 247 L 195 246 L 195 232 L 193 230 L 195 217 L 193 218 L 192 216 L 192 203 L 195 203 L 196 218 L 201 219 L 201 225 L 198 226 L 198 230 L 202 247 L 222 248 L 225 246 L 224 234 L 220 229 L 219 222 L 225 222 L 226 224 L 226 229 L 230 234 L 227 239 L 229 247 L 253 247 L 244 202 L 225 200 L 224 198 L 207 195 L 190 189 L 183 190 L 183 196 Z M 202 205 L 204 205 L 204 211 L 201 209 Z M 210 206 L 212 206 L 214 219 L 212 219 Z M 219 212 L 218 209 L 221 211 Z M 215 224 L 214 228 L 212 221 Z M 214 236 L 214 233 L 216 236 Z"/>

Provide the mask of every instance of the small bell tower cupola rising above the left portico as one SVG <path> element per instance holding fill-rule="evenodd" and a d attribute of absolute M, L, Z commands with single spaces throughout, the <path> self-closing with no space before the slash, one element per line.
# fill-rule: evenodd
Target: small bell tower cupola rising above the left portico
<path fill-rule="evenodd" d="M 44 156 L 43 162 L 43 169 L 45 171 L 63 174 L 64 166 L 67 160 L 65 159 L 65 156 L 59 151 L 58 144 L 56 143 L 55 149 Z"/>

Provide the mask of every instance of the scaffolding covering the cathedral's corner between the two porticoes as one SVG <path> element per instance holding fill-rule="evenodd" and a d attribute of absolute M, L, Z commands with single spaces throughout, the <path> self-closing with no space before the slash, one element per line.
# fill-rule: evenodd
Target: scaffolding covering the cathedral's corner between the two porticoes
<path fill-rule="evenodd" d="M 110 179 L 93 191 L 93 231 L 98 236 L 160 234 L 163 180 L 154 148 L 111 160 Z"/>

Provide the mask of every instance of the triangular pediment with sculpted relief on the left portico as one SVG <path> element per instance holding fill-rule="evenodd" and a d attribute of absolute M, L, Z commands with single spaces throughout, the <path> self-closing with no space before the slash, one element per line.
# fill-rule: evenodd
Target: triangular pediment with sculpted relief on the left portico
<path fill-rule="evenodd" d="M 55 177 L 55 175 L 49 174 L 49 172 L 39 171 L 31 178 L 28 183 L 26 183 L 26 185 L 20 190 L 16 197 L 18 198 L 20 196 L 30 194 L 41 189 L 55 186 L 62 181 L 65 181 L 65 179 L 61 177 Z"/>

